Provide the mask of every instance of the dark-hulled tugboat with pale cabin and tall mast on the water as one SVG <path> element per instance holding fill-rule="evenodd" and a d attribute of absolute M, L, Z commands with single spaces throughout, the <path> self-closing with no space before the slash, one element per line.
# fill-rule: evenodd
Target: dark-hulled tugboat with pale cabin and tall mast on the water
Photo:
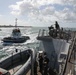
<path fill-rule="evenodd" d="M 19 28 L 17 28 L 17 19 L 15 22 L 15 29 L 13 29 L 11 36 L 4 37 L 2 39 L 3 42 L 10 43 L 23 43 L 26 40 L 30 39 L 29 36 L 23 36 Z"/>

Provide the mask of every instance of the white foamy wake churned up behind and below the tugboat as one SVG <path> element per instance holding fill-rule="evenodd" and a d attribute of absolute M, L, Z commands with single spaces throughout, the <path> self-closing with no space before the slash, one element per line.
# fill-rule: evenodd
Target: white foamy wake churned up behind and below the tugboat
<path fill-rule="evenodd" d="M 30 28 L 30 29 L 26 29 L 26 30 L 22 29 L 22 31 L 24 32 L 25 35 L 30 37 L 30 40 L 27 40 L 24 43 L 3 43 L 1 41 L 0 58 L 3 58 L 8 55 L 11 55 L 12 53 L 15 53 L 16 49 L 18 49 L 18 51 L 25 50 L 26 48 L 36 49 L 36 47 L 39 45 L 39 41 L 36 39 L 36 37 L 38 36 L 39 29 L 33 30 L 33 28 Z"/>

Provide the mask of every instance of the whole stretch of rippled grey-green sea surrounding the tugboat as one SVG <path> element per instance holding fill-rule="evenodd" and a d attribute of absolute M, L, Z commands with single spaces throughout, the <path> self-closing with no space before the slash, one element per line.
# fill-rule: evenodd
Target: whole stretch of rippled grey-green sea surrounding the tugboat
<path fill-rule="evenodd" d="M 26 27 L 21 27 L 21 33 L 23 35 L 27 35 L 30 37 L 30 40 L 27 40 L 24 43 L 3 43 L 1 41 L 2 38 L 11 35 L 12 30 L 14 28 L 1 28 L 2 30 L 0 31 L 0 59 L 11 55 L 11 53 L 15 52 L 15 48 L 17 48 L 18 50 L 24 50 L 26 48 L 34 48 L 36 49 L 36 47 L 39 45 L 39 41 L 36 39 L 39 29 L 43 29 L 43 28 L 39 28 L 39 27 L 30 27 L 30 28 L 26 28 Z"/>

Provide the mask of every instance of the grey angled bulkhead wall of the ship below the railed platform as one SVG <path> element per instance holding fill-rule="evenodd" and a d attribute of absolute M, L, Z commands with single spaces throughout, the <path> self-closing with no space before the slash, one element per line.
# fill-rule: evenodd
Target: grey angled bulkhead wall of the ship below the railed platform
<path fill-rule="evenodd" d="M 41 40 L 39 50 L 46 52 L 52 69 L 59 71 L 61 59 L 66 59 L 70 43 L 63 39 L 48 38 Z"/>

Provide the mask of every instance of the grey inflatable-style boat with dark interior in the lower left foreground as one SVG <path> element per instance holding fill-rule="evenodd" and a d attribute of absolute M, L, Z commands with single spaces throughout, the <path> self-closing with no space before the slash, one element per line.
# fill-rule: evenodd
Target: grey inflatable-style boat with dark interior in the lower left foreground
<path fill-rule="evenodd" d="M 26 75 L 33 67 L 35 55 L 34 49 L 16 49 L 16 53 L 0 60 L 0 75 Z"/>

